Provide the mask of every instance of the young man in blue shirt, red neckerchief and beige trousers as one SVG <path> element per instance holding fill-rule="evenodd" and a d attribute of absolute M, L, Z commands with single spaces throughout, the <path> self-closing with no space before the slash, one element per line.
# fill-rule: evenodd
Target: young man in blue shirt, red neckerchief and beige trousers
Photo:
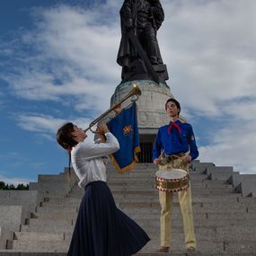
<path fill-rule="evenodd" d="M 154 141 L 154 164 L 159 165 L 159 170 L 177 168 L 189 172 L 189 163 L 199 156 L 193 129 L 189 123 L 179 119 L 181 105 L 175 99 L 169 99 L 165 103 L 165 110 L 171 121 L 169 125 L 163 126 L 158 130 Z M 164 162 L 162 162 L 163 157 Z M 196 238 L 190 182 L 187 190 L 178 192 L 178 198 L 183 218 L 186 248 L 188 252 L 195 252 Z M 172 192 L 159 190 L 159 200 L 162 207 L 160 217 L 161 247 L 157 252 L 169 252 L 171 245 Z"/>

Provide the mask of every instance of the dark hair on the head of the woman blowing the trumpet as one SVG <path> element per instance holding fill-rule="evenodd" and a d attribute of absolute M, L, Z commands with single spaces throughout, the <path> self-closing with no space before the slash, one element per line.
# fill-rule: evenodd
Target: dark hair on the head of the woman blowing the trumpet
<path fill-rule="evenodd" d="M 72 136 L 73 131 L 73 123 L 66 123 L 57 130 L 57 143 L 66 150 L 70 150 L 73 146 L 77 144 L 77 142 Z"/>

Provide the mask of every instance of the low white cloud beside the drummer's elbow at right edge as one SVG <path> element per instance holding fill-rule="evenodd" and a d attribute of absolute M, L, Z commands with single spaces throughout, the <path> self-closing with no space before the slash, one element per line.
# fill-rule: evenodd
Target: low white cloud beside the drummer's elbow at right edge
<path fill-rule="evenodd" d="M 212 142 L 199 148 L 200 161 L 234 166 L 234 171 L 256 174 L 255 126 L 256 122 L 243 125 L 235 122 L 227 128 L 215 131 Z"/>

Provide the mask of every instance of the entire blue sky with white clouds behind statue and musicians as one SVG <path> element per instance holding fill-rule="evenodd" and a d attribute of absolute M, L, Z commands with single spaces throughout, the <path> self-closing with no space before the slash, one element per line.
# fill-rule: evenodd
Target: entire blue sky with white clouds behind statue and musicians
<path fill-rule="evenodd" d="M 158 40 L 199 160 L 256 173 L 256 2 L 162 0 Z M 63 172 L 55 141 L 86 128 L 120 82 L 121 0 L 0 2 L 0 180 Z M 90 136 L 92 139 L 92 136 Z"/>

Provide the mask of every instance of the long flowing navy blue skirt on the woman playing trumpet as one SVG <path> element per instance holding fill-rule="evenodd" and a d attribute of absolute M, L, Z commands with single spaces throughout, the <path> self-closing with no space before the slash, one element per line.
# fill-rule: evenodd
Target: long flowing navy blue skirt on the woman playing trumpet
<path fill-rule="evenodd" d="M 145 231 L 116 207 L 106 182 L 85 188 L 68 256 L 130 256 L 149 241 Z"/>

